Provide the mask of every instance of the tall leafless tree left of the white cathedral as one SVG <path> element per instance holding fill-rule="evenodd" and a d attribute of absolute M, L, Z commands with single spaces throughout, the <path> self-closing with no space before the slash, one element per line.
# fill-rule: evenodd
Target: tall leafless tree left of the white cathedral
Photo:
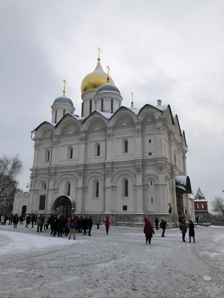
<path fill-rule="evenodd" d="M 3 212 L 11 212 L 14 194 L 18 188 L 18 176 L 23 165 L 17 154 L 15 157 L 0 158 L 0 208 Z"/>

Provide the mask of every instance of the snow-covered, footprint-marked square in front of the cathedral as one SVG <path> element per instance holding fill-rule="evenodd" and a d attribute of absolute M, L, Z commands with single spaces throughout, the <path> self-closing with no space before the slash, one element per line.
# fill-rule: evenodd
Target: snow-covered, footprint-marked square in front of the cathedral
<path fill-rule="evenodd" d="M 30 226 L 0 225 L 2 298 L 224 297 L 224 227 L 195 227 L 196 243 L 159 229 L 146 245 L 142 228 L 93 226 L 68 240 Z"/>

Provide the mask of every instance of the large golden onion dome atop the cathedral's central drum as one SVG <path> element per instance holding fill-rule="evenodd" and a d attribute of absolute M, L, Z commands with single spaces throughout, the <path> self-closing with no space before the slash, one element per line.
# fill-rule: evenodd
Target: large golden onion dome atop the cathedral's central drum
<path fill-rule="evenodd" d="M 86 75 L 84 79 L 82 80 L 81 84 L 81 92 L 82 94 L 90 91 L 90 90 L 97 90 L 99 86 L 107 83 L 107 77 L 108 75 L 103 71 L 102 66 L 100 64 L 100 58 L 97 58 L 98 63 L 96 65 L 96 68 L 93 72 Z M 110 84 L 113 84 L 113 80 L 110 78 Z"/>

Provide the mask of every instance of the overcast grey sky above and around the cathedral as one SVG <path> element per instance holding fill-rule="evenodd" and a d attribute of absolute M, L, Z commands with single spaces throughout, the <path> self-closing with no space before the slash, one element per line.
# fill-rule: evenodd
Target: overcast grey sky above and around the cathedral
<path fill-rule="evenodd" d="M 62 79 L 81 116 L 81 83 L 100 47 L 122 105 L 133 92 L 135 106 L 161 99 L 178 115 L 194 194 L 223 196 L 223 15 L 223 0 L 0 0 L 0 156 L 19 153 L 20 188 L 30 182 L 30 131 L 51 121 Z"/>

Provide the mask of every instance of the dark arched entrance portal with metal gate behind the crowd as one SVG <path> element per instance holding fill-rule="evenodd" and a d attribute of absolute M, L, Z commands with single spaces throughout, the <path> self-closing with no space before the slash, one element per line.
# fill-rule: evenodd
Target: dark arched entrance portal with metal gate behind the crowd
<path fill-rule="evenodd" d="M 72 197 L 68 195 L 61 195 L 54 201 L 53 210 L 56 210 L 58 215 L 70 215 L 72 210 L 75 210 L 75 202 Z"/>

